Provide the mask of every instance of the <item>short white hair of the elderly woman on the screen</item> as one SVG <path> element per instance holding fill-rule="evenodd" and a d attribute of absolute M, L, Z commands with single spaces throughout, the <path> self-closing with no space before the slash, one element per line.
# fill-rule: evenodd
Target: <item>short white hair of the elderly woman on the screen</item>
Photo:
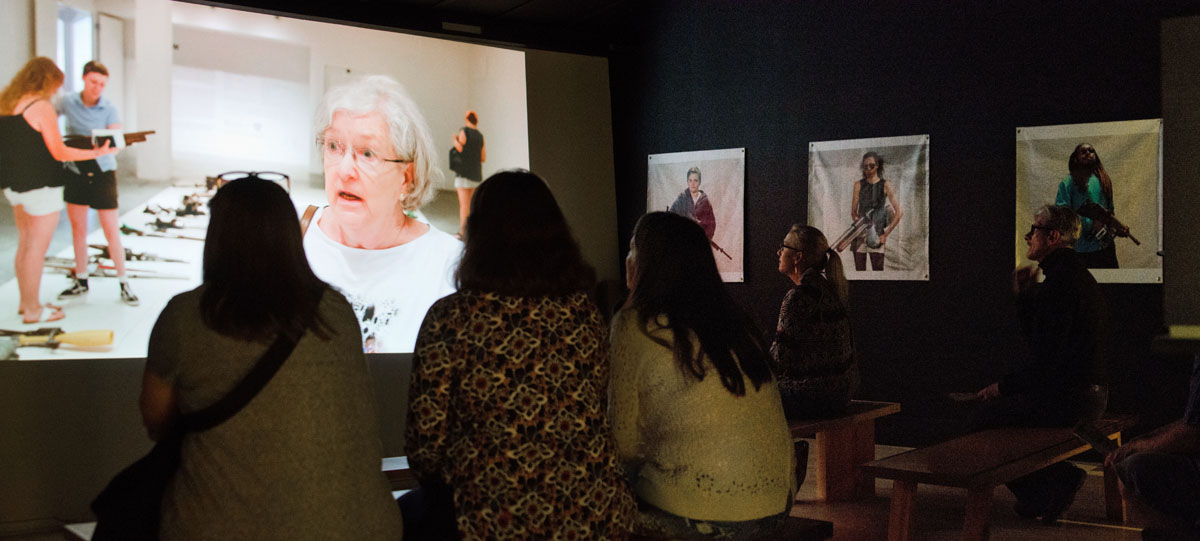
<path fill-rule="evenodd" d="M 442 178 L 442 169 L 433 167 L 430 126 L 404 86 L 388 76 L 366 76 L 328 90 L 317 109 L 314 133 L 325 133 L 337 110 L 383 114 L 396 155 L 413 162 L 413 185 L 401 203 L 406 211 L 425 206 L 433 198 L 430 186 Z"/>

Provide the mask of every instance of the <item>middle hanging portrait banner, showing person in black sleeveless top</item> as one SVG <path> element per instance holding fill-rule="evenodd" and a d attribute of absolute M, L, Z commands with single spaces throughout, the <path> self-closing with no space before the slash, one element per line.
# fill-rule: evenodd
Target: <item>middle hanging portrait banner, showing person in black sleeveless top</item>
<path fill-rule="evenodd" d="M 848 279 L 929 281 L 929 136 L 809 143 L 809 226 Z"/>

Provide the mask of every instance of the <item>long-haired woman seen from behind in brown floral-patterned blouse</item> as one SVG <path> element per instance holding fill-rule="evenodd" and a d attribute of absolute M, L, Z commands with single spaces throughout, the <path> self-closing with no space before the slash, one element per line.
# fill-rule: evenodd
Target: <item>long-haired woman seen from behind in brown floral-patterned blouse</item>
<path fill-rule="evenodd" d="M 623 539 L 634 500 L 605 415 L 595 272 L 533 173 L 492 175 L 470 206 L 458 291 L 413 354 L 404 444 L 424 489 L 400 500 L 406 536 Z"/>

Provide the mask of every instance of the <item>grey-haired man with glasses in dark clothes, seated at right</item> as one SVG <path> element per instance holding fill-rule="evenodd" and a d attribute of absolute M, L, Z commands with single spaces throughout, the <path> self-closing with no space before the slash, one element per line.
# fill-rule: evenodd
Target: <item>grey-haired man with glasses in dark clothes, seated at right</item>
<path fill-rule="evenodd" d="M 1028 355 L 1015 369 L 978 392 L 977 426 L 1069 427 L 1099 419 L 1108 401 L 1102 337 L 1108 308 L 1096 278 L 1073 248 L 1079 216 L 1046 205 L 1025 234 L 1026 257 L 1038 266 L 1013 272 L 1021 332 Z M 1038 270 L 1045 281 L 1038 282 Z M 1016 513 L 1055 523 L 1074 501 L 1087 475 L 1058 462 L 1008 483 Z"/>

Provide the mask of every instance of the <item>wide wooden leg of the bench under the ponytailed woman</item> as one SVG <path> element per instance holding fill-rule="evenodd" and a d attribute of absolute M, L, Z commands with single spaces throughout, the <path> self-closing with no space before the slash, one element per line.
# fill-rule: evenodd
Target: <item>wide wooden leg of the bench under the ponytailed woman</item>
<path fill-rule="evenodd" d="M 875 479 L 863 475 L 863 464 L 875 459 L 875 422 L 818 432 L 817 499 L 851 501 L 875 495 Z"/>

